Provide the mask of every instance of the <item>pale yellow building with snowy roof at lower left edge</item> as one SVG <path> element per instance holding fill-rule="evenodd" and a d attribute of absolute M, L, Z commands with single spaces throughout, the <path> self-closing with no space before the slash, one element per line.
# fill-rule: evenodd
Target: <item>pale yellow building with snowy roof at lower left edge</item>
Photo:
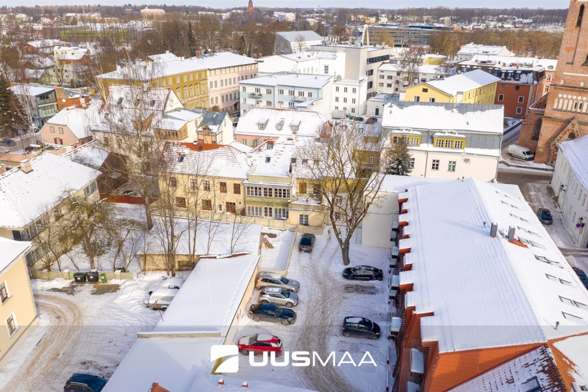
<path fill-rule="evenodd" d="M 25 264 L 32 243 L 0 237 L 0 368 L 39 323 Z"/>

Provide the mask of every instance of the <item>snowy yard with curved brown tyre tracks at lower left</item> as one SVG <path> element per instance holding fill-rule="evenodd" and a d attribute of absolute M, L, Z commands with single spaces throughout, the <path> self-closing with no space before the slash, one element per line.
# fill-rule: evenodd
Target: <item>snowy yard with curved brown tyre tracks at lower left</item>
<path fill-rule="evenodd" d="M 148 300 L 162 276 L 148 273 L 96 286 L 34 279 L 41 326 L 0 370 L 0 391 L 55 392 L 76 372 L 111 376 L 136 333 L 151 330 L 159 320 L 158 311 L 140 303 Z M 97 294 L 104 286 L 116 291 Z"/>

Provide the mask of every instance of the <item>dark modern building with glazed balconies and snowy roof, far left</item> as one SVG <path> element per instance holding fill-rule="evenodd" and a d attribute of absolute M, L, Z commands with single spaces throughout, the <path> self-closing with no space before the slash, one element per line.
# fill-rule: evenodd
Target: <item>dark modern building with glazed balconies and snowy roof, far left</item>
<path fill-rule="evenodd" d="M 32 125 L 36 128 L 40 129 L 59 110 L 53 87 L 34 83 L 27 85 L 15 83 L 10 89 L 24 106 Z"/>

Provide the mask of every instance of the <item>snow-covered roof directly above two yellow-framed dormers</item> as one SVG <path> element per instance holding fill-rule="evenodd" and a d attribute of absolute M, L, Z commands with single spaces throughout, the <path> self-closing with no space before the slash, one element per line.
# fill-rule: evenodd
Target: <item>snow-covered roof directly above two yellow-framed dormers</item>
<path fill-rule="evenodd" d="M 392 101 L 383 110 L 382 126 L 502 133 L 503 118 L 502 105 Z"/>

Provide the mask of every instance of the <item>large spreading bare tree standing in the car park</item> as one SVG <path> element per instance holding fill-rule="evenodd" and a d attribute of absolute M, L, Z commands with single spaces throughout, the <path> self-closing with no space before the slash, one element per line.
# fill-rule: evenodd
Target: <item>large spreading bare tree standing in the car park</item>
<path fill-rule="evenodd" d="M 390 149 L 382 149 L 380 135 L 366 127 L 335 124 L 328 135 L 302 145 L 297 159 L 298 177 L 320 189 L 321 212 L 333 227 L 345 265 L 353 233 L 369 207 L 378 202 L 391 165 Z M 346 226 L 346 232 L 339 232 L 338 226 Z"/>

